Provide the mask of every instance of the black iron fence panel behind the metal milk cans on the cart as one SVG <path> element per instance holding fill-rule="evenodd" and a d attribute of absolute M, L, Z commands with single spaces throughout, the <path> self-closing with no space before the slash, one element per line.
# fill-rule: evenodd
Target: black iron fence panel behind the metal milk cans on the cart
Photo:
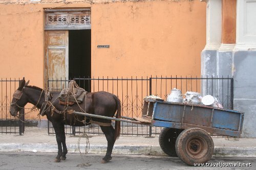
<path fill-rule="evenodd" d="M 170 89 L 178 88 L 184 94 L 195 91 L 204 95 L 212 95 L 225 109 L 233 109 L 233 78 L 224 77 L 154 77 L 150 78 L 152 94 L 166 100 Z"/>

